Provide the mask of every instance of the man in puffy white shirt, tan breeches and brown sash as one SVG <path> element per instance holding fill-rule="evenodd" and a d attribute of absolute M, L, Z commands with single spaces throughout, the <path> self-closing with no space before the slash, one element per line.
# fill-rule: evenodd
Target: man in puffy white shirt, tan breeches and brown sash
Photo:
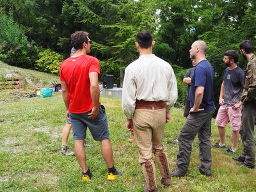
<path fill-rule="evenodd" d="M 146 181 L 144 191 L 157 191 L 154 156 L 162 184 L 171 184 L 163 134 L 165 124 L 170 122 L 169 111 L 177 100 L 177 82 L 170 64 L 152 54 L 155 42 L 150 31 L 138 33 L 135 45 L 140 58 L 125 69 L 122 108 L 126 127 L 134 131 L 139 148 L 139 163 Z"/>

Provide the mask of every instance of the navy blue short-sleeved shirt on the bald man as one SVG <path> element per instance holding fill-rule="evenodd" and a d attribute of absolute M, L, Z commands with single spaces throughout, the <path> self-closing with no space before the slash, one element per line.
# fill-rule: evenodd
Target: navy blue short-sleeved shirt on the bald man
<path fill-rule="evenodd" d="M 209 113 L 214 109 L 213 76 L 213 68 L 209 61 L 202 60 L 196 65 L 189 90 L 190 108 L 194 106 L 196 86 L 204 86 L 204 96 L 199 106 L 200 109 L 204 108 L 204 111 L 200 111 L 200 113 Z"/>

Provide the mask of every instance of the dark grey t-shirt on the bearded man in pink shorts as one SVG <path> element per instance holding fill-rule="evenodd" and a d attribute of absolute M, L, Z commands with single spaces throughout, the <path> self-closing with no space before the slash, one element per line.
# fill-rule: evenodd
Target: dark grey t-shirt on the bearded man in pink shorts
<path fill-rule="evenodd" d="M 244 84 L 244 72 L 240 67 L 233 70 L 226 68 L 224 72 L 224 104 L 230 106 L 241 100 Z"/>

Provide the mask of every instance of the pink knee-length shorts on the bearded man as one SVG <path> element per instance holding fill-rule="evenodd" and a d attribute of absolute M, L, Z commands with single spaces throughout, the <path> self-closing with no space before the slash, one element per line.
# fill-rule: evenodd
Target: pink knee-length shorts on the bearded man
<path fill-rule="evenodd" d="M 232 109 L 232 106 L 220 106 L 216 116 L 215 125 L 226 127 L 228 120 L 230 120 L 230 127 L 233 131 L 237 131 L 240 129 L 241 117 L 241 108 L 234 110 Z"/>

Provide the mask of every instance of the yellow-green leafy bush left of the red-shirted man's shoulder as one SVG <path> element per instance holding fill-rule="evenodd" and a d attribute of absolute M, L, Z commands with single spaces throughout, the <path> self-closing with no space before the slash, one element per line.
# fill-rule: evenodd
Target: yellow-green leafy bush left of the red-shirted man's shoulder
<path fill-rule="evenodd" d="M 60 64 L 64 60 L 63 56 L 51 49 L 39 52 L 39 59 L 36 60 L 36 70 L 42 72 L 50 72 L 51 74 L 59 74 Z"/>

